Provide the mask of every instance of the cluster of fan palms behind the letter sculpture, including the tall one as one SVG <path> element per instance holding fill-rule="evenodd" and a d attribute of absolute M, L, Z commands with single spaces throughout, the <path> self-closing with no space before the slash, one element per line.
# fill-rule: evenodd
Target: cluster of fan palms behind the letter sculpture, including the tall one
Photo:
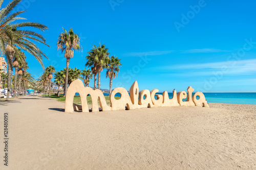
<path fill-rule="evenodd" d="M 92 74 L 94 75 L 94 89 L 97 88 L 97 85 L 98 89 L 100 89 L 100 74 L 104 68 L 106 68 L 106 78 L 110 78 L 111 93 L 112 81 L 116 78 L 118 72 L 120 71 L 120 59 L 115 56 L 110 57 L 110 53 L 108 52 L 109 49 L 106 48 L 105 45 L 99 44 L 99 46 L 94 45 L 86 57 L 87 62 L 85 66 L 91 67 L 91 70 L 90 68 L 82 71 L 77 68 L 69 68 L 70 59 L 74 57 L 74 51 L 82 51 L 82 47 L 79 42 L 80 38 L 74 33 L 72 28 L 69 31 L 63 29 L 63 32 L 60 33 L 58 37 L 57 48 L 58 50 L 61 50 L 61 52 L 65 51 L 64 57 L 67 58 L 67 64 L 66 68 L 55 73 L 54 83 L 58 86 L 57 95 L 59 96 L 60 86 L 63 86 L 63 89 L 65 89 L 63 96 L 65 96 L 68 85 L 70 85 L 76 79 L 83 79 L 84 86 L 89 87 Z M 44 93 L 45 87 L 49 88 L 49 90 L 46 90 L 47 95 L 50 95 L 50 88 L 52 86 L 50 83 L 52 78 L 51 75 L 53 72 L 55 72 L 54 68 L 52 68 L 52 66 L 47 67 L 44 74 L 38 79 L 38 87 L 42 87 L 44 89 Z"/>

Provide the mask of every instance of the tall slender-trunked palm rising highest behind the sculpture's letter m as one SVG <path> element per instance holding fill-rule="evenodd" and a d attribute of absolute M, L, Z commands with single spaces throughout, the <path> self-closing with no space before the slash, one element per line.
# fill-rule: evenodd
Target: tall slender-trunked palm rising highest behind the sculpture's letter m
<path fill-rule="evenodd" d="M 78 37 L 78 34 L 75 34 L 72 28 L 69 30 L 69 32 L 67 32 L 65 29 L 63 30 L 64 31 L 60 33 L 58 37 L 57 47 L 58 47 L 58 50 L 61 50 L 61 53 L 65 51 L 64 57 L 67 58 L 65 92 L 64 92 L 64 96 L 66 96 L 67 89 L 68 89 L 69 62 L 70 62 L 70 59 L 73 58 L 74 56 L 74 50 L 82 51 L 82 47 L 80 45 L 80 38 Z"/>

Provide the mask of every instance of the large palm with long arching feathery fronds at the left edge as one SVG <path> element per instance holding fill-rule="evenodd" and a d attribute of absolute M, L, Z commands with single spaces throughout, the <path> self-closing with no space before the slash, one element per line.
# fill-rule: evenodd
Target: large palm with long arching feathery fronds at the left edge
<path fill-rule="evenodd" d="M 31 41 L 34 40 L 36 42 L 46 44 L 46 39 L 34 31 L 20 30 L 20 28 L 33 27 L 41 31 L 45 31 L 48 28 L 36 22 L 12 23 L 15 20 L 25 19 L 18 17 L 18 15 L 26 11 L 18 11 L 11 14 L 20 1 L 21 0 L 13 0 L 5 8 L 0 10 L 0 48 L 6 55 L 8 61 L 8 92 L 6 100 L 9 100 L 10 96 L 13 55 L 18 52 L 16 46 L 32 54 L 43 68 L 42 57 L 46 57 L 46 55 L 40 51 L 37 45 Z M 4 0 L 0 0 L 0 8 L 2 7 L 3 2 Z"/>

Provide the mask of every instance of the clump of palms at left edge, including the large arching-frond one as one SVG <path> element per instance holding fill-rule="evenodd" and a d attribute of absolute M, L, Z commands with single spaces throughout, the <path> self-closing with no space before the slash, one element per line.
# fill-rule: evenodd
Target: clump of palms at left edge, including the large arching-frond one
<path fill-rule="evenodd" d="M 2 8 L 4 0 L 0 0 L 0 53 L 5 56 L 8 63 L 7 77 L 7 99 L 9 100 L 11 86 L 14 86 L 14 98 L 17 92 L 26 94 L 27 86 L 33 82 L 33 77 L 29 72 L 26 72 L 27 62 L 26 56 L 22 52 L 28 52 L 34 56 L 37 61 L 44 68 L 42 58 L 47 56 L 38 48 L 34 42 L 46 43 L 46 39 L 28 28 L 35 28 L 40 31 L 46 31 L 48 28 L 37 22 L 22 22 L 20 20 L 26 19 L 19 17 L 20 14 L 26 11 L 13 12 L 14 8 L 22 0 L 13 0 L 5 8 Z M 18 22 L 15 22 L 18 21 Z M 33 42 L 34 41 L 34 42 Z M 12 83 L 12 70 L 15 68 L 14 81 Z M 17 83 L 18 78 L 18 83 Z M 3 79 L 3 78 L 2 78 Z M 21 86 L 20 84 L 23 83 Z M 24 90 L 22 90 L 24 89 Z"/>

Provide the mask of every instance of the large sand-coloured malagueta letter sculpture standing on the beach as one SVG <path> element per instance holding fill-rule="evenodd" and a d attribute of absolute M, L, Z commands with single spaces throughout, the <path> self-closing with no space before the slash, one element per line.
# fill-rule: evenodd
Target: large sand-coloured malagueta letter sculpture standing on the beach
<path fill-rule="evenodd" d="M 111 105 L 108 106 L 101 90 L 93 90 L 91 87 L 84 87 L 81 80 L 75 80 L 70 84 L 66 94 L 65 112 L 73 112 L 77 110 L 81 110 L 82 112 L 89 112 L 87 103 L 87 96 L 89 94 L 92 99 L 92 112 L 99 111 L 98 100 L 102 111 L 124 109 L 130 110 L 164 106 L 209 107 L 202 92 L 196 92 L 194 95 L 192 95 L 194 89 L 191 86 L 187 88 L 187 93 L 185 91 L 180 91 L 177 94 L 176 90 L 174 90 L 172 99 L 169 99 L 167 91 L 164 91 L 163 94 L 156 94 L 158 91 L 158 89 L 153 89 L 152 91 L 139 91 L 138 83 L 135 81 L 130 88 L 130 95 L 127 90 L 122 87 L 115 88 L 110 95 Z M 80 94 L 81 105 L 76 105 L 73 103 L 74 95 L 76 92 Z M 116 93 L 120 93 L 120 99 L 115 99 Z M 155 96 L 157 99 L 155 99 Z M 199 96 L 198 100 L 197 96 Z M 183 101 L 183 99 L 186 98 L 187 100 Z"/>

